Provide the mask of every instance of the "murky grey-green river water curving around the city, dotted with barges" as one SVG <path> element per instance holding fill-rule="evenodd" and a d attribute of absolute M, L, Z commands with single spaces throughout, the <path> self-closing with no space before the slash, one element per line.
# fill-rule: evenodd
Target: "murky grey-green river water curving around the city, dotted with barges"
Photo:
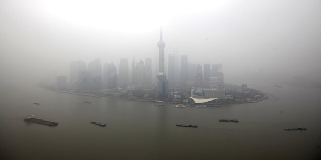
<path fill-rule="evenodd" d="M 249 87 L 275 97 L 257 103 L 176 108 L 33 86 L 2 87 L 0 159 L 317 159 L 321 90 Z M 59 124 L 23 121 L 32 114 Z M 298 127 L 308 130 L 283 130 Z"/>

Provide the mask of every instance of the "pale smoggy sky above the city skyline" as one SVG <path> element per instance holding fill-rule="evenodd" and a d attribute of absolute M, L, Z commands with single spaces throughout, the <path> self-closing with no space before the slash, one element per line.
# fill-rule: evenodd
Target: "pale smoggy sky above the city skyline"
<path fill-rule="evenodd" d="M 226 81 L 259 67 L 321 76 L 321 1 L 1 0 L 1 79 L 69 76 L 70 61 L 97 57 L 155 60 L 160 26 L 165 59 L 222 63 Z"/>

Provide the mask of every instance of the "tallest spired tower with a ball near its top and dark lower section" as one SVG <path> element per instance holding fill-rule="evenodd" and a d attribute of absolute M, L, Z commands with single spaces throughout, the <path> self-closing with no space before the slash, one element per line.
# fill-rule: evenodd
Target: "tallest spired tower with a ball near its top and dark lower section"
<path fill-rule="evenodd" d="M 161 30 L 161 40 L 157 43 L 159 48 L 159 73 L 158 78 L 158 96 L 159 98 L 167 98 L 168 93 L 168 81 L 166 74 L 164 73 L 164 47 L 165 42 L 163 41 L 163 32 Z"/>

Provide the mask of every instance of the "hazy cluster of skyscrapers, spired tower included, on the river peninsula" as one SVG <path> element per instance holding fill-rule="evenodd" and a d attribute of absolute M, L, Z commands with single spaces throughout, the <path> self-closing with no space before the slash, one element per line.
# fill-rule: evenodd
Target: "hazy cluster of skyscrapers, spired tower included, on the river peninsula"
<path fill-rule="evenodd" d="M 88 65 L 84 61 L 72 61 L 70 65 L 70 90 L 98 91 L 125 90 L 129 86 L 156 92 L 159 99 L 181 97 L 180 91 L 189 90 L 187 96 L 199 99 L 225 99 L 224 75 L 222 64 L 192 64 L 187 55 L 180 57 L 168 55 L 167 74 L 165 73 L 164 48 L 162 31 L 159 48 L 159 70 L 157 82 L 153 81 L 152 59 L 146 58 L 136 61 L 134 58 L 129 66 L 127 58 L 121 58 L 119 71 L 113 62 L 103 66 L 100 58 L 94 59 Z M 178 59 L 180 58 L 180 59 Z M 57 87 L 66 86 L 66 77 L 57 77 Z M 136 87 L 136 88 L 137 88 Z"/>

